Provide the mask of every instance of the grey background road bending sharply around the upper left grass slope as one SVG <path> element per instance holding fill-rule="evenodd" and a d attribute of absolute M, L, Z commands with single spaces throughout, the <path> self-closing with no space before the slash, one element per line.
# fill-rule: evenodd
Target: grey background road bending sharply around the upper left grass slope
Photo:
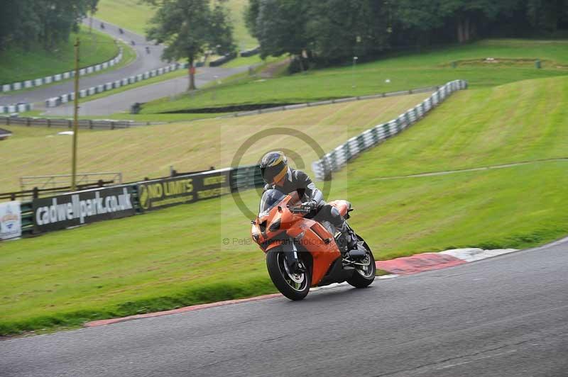
<path fill-rule="evenodd" d="M 89 24 L 89 20 L 84 20 L 85 24 Z M 136 50 L 136 60 L 128 64 L 126 67 L 114 70 L 105 70 L 101 74 L 94 74 L 89 77 L 81 77 L 80 79 L 80 89 L 88 89 L 92 86 L 97 86 L 100 84 L 105 84 L 109 81 L 116 81 L 124 79 L 126 77 L 133 76 L 135 74 L 141 74 L 143 72 L 149 71 L 151 69 L 164 67 L 167 62 L 161 60 L 161 55 L 163 51 L 163 46 L 155 46 L 152 43 L 147 43 L 146 38 L 142 35 L 131 33 L 128 30 L 124 30 L 124 34 L 119 33 L 119 26 L 112 25 L 111 23 L 105 22 L 105 28 L 100 28 L 101 21 L 96 18 L 93 19 L 93 28 L 107 33 L 114 38 L 119 38 L 124 40 L 126 43 L 130 43 L 133 40 L 136 45 L 131 46 Z M 149 45 L 151 53 L 146 53 L 146 46 Z M 62 73 L 62 72 L 60 72 Z M 60 96 L 62 94 L 67 94 L 73 91 L 73 81 L 67 81 L 62 84 L 53 86 L 40 86 L 38 89 L 33 89 L 30 91 L 15 91 L 12 94 L 0 94 L 0 104 L 11 105 L 13 103 L 35 103 L 43 102 L 46 99 L 50 99 L 55 96 Z"/>

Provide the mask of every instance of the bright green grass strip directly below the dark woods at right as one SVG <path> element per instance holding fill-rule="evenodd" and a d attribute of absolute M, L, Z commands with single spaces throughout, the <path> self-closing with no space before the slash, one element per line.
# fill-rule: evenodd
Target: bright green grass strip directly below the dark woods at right
<path fill-rule="evenodd" d="M 465 46 L 392 55 L 375 62 L 319 69 L 274 79 L 249 79 L 224 86 L 214 99 L 207 92 L 148 103 L 143 113 L 210 108 L 236 103 L 300 103 L 346 96 L 362 96 L 466 79 L 472 88 L 507 84 L 568 74 L 568 41 L 482 40 Z M 522 59 L 523 62 L 485 63 L 486 57 Z M 452 68 L 453 61 L 473 60 Z M 534 60 L 543 61 L 536 69 Z M 387 83 L 386 80 L 391 80 Z M 353 87 L 355 86 L 355 87 Z"/>

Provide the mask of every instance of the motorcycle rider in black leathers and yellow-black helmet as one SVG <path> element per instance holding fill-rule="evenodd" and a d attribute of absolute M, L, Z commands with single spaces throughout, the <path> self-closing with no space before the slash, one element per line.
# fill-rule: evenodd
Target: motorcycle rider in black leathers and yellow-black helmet
<path fill-rule="evenodd" d="M 357 237 L 347 225 L 345 219 L 334 206 L 330 206 L 323 200 L 323 193 L 312 182 L 310 177 L 301 170 L 288 166 L 288 159 L 283 152 L 268 152 L 261 159 L 261 174 L 266 182 L 264 190 L 271 188 L 289 194 L 297 191 L 302 208 L 310 210 L 306 218 L 313 218 L 321 222 L 323 220 L 332 223 L 345 240 L 343 252 L 349 252 L 357 247 Z"/>

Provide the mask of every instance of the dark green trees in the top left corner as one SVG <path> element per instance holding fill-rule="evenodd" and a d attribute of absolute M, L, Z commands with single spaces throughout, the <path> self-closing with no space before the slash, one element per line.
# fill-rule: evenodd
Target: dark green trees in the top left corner
<path fill-rule="evenodd" d="M 69 38 L 99 0 L 0 0 L 0 50 L 42 45 L 46 50 Z"/>

